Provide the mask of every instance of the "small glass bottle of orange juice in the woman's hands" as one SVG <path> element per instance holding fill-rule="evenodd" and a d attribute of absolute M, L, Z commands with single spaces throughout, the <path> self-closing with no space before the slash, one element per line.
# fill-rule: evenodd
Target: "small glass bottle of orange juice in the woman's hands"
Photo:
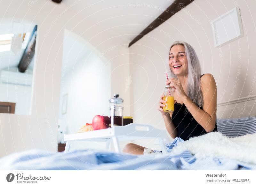
<path fill-rule="evenodd" d="M 172 88 L 170 85 L 164 87 L 164 97 L 163 100 L 166 101 L 165 106 L 163 106 L 164 112 L 174 111 L 174 97 L 172 96 Z"/>

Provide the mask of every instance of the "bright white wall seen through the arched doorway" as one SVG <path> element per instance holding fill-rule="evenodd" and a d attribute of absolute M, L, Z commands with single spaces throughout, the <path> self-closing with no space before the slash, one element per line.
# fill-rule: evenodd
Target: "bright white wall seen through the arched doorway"
<path fill-rule="evenodd" d="M 80 43 L 84 44 L 84 49 L 80 49 Z M 82 38 L 78 37 L 73 42 L 64 41 L 64 48 L 66 47 L 71 53 L 63 53 L 62 73 L 65 76 L 61 78 L 60 108 L 62 96 L 68 94 L 67 113 L 62 114 L 59 109 L 59 115 L 62 124 L 68 126 L 67 133 L 73 134 L 85 123 L 92 123 L 95 115 L 109 115 L 111 66 L 91 52 L 90 46 L 85 45 Z M 85 53 L 81 60 L 72 57 L 79 56 L 79 53 Z M 67 69 L 65 63 L 72 63 L 72 66 Z"/>

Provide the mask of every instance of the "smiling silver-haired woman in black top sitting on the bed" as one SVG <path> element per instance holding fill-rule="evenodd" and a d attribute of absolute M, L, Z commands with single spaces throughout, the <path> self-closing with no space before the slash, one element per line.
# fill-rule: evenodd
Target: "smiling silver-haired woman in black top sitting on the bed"
<path fill-rule="evenodd" d="M 173 89 L 174 112 L 163 112 L 165 101 L 161 95 L 158 110 L 172 138 L 188 140 L 211 131 L 217 131 L 217 88 L 212 74 L 201 75 L 201 67 L 195 50 L 186 42 L 176 41 L 169 54 L 172 77 L 166 85 Z M 128 143 L 124 153 L 143 154 L 144 148 Z"/>

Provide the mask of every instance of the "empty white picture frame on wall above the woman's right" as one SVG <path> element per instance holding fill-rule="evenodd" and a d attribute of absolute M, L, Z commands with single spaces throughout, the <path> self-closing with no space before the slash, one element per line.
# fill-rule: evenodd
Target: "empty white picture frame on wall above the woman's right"
<path fill-rule="evenodd" d="M 239 8 L 235 7 L 212 21 L 214 46 L 223 46 L 244 36 Z"/>

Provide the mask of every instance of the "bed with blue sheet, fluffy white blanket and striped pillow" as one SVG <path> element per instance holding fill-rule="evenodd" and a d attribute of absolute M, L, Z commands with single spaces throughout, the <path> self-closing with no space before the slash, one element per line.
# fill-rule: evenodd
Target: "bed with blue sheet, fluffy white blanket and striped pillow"
<path fill-rule="evenodd" d="M 93 149 L 29 150 L 0 159 L 0 170 L 256 170 L 256 117 L 219 119 L 218 132 L 175 138 L 166 155 Z"/>

